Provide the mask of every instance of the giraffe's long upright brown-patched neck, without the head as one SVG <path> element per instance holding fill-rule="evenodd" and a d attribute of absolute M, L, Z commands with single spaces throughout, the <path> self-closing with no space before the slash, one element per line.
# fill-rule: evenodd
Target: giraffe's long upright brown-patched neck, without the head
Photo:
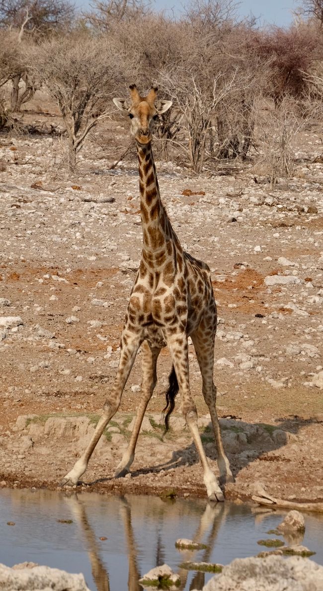
<path fill-rule="evenodd" d="M 143 226 L 144 251 L 169 249 L 173 230 L 167 217 L 164 206 L 160 200 L 159 186 L 156 175 L 151 144 L 143 146 L 137 144 L 139 158 L 139 188 L 140 188 L 140 213 Z"/>

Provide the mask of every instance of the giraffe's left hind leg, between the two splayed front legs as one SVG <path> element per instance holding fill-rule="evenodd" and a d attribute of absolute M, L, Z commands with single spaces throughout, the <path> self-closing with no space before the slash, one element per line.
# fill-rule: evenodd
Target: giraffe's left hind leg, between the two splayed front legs
<path fill-rule="evenodd" d="M 147 341 L 144 341 L 141 346 L 142 362 L 141 368 L 143 372 L 143 379 L 141 383 L 141 400 L 137 411 L 136 421 L 134 423 L 133 431 L 131 433 L 127 451 L 124 453 L 120 464 L 117 466 L 115 476 L 120 478 L 126 476 L 129 468 L 134 460 L 134 451 L 136 449 L 137 439 L 141 423 L 143 422 L 144 413 L 154 388 L 157 384 L 156 365 L 160 353 L 160 349 L 151 349 Z"/>

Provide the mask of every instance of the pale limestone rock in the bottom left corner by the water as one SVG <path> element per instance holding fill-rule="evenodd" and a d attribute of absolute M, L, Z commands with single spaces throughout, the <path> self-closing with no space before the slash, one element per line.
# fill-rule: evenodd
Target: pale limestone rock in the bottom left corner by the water
<path fill-rule="evenodd" d="M 0 589 L 6 591 L 90 591 L 83 574 L 70 574 L 49 566 L 10 569 L 0 564 Z"/>

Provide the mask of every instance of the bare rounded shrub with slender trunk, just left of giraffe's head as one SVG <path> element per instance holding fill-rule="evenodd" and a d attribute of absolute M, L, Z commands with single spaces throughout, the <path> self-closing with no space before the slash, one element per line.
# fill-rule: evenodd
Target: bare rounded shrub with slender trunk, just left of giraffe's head
<path fill-rule="evenodd" d="M 68 168 L 88 132 L 112 112 L 120 61 L 104 38 L 65 37 L 46 41 L 32 53 L 32 71 L 57 100 L 68 136 Z"/>

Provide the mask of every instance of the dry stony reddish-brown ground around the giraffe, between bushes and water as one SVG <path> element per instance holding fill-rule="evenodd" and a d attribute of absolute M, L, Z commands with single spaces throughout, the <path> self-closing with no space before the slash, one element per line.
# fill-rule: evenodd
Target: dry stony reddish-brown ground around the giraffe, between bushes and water
<path fill-rule="evenodd" d="M 33 110 L 29 105 L 25 122 L 61 125 L 52 106 L 48 113 L 41 108 L 37 100 Z M 97 128 L 77 174 L 67 175 L 60 167 L 64 138 L 0 138 L 1 486 L 55 488 L 84 448 L 113 383 L 141 251 L 136 158 L 130 154 L 108 170 L 128 141 L 119 122 Z M 274 496 L 323 501 L 320 153 L 321 137 L 304 134 L 295 177 L 274 187 L 252 164 L 236 166 L 234 175 L 193 176 L 156 162 L 174 230 L 212 269 L 217 408 L 236 477 L 226 491 L 231 498 L 250 497 L 261 482 Z M 200 430 L 217 471 L 189 350 Z M 83 477 L 92 489 L 205 495 L 178 400 L 163 438 L 170 366 L 165 349 L 131 475 L 115 480 L 140 398 L 137 356 L 120 411 Z"/>

